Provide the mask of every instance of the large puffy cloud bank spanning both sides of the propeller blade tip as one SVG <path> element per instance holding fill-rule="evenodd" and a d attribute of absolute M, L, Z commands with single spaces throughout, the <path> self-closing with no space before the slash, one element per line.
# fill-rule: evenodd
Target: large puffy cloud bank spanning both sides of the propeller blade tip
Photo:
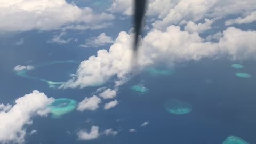
<path fill-rule="evenodd" d="M 118 84 L 126 82 L 133 72 L 132 39 L 134 34 L 119 33 L 109 51 L 99 50 L 81 62 L 77 73 L 62 88 L 86 87 L 107 82 L 114 76 Z M 223 31 L 219 42 L 205 42 L 197 33 L 182 31 L 179 26 L 169 26 L 167 30 L 152 29 L 141 41 L 137 67 L 140 71 L 158 62 L 175 64 L 202 58 L 215 58 L 225 54 L 232 59 L 250 59 L 256 55 L 256 31 L 242 31 L 229 27 Z M 246 43 L 245 43 L 246 42 Z"/>

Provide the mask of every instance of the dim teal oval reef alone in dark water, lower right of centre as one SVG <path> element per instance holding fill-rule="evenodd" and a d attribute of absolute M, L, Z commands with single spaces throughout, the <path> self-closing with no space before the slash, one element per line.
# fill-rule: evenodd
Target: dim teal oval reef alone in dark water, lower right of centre
<path fill-rule="evenodd" d="M 164 103 L 164 108 L 167 110 L 168 113 L 174 115 L 183 115 L 190 113 L 192 111 L 192 106 L 187 103 L 180 101 L 178 99 L 169 99 Z"/>

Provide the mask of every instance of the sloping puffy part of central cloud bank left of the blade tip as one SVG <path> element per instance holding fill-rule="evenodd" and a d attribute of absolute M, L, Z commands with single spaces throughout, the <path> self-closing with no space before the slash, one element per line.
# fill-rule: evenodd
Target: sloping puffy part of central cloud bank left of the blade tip
<path fill-rule="evenodd" d="M 61 85 L 67 87 L 86 87 L 105 83 L 111 76 L 117 74 L 119 78 L 125 77 L 130 71 L 130 61 L 132 58 L 131 37 L 124 31 L 119 33 L 116 42 L 107 50 L 99 50 L 98 56 L 91 56 L 83 61 L 76 76 L 68 83 Z"/>

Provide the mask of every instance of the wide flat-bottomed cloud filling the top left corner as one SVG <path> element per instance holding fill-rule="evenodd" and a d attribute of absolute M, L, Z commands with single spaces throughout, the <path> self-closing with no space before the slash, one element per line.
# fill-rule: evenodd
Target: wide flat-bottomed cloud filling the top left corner
<path fill-rule="evenodd" d="M 79 8 L 65 0 L 3 1 L 0 3 L 0 31 L 51 30 L 67 25 L 93 27 L 114 15 L 95 13 L 89 7 Z"/>

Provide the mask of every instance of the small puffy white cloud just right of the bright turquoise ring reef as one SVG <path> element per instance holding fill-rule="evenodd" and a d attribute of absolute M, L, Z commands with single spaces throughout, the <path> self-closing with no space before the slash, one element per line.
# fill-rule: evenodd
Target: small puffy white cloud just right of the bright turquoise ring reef
<path fill-rule="evenodd" d="M 78 104 L 77 110 L 96 110 L 99 108 L 100 102 L 100 98 L 96 95 L 93 95 L 91 98 L 86 97 L 82 102 Z"/>

